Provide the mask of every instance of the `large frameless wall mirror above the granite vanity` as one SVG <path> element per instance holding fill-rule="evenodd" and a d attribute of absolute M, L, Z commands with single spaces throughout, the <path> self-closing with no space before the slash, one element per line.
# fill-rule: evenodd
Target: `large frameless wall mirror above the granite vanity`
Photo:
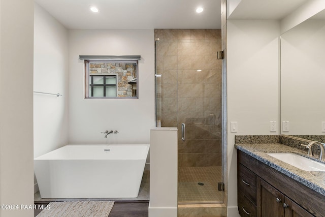
<path fill-rule="evenodd" d="M 325 135 L 325 10 L 281 35 L 281 133 Z"/>

